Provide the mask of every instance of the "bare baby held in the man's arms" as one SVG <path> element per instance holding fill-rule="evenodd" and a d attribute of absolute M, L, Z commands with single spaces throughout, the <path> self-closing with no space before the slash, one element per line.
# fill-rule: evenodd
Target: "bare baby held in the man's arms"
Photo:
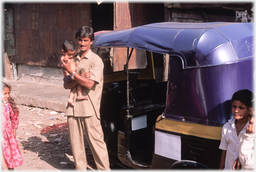
<path fill-rule="evenodd" d="M 75 42 L 71 41 L 71 40 L 64 41 L 63 45 L 62 45 L 62 53 L 63 53 L 63 56 L 60 57 L 60 62 L 61 63 L 70 62 L 71 69 L 75 71 L 76 65 L 73 61 L 74 55 L 75 55 L 75 57 L 77 56 L 76 50 L 75 50 Z M 64 82 L 66 82 L 66 83 L 70 82 L 72 80 L 71 75 L 64 69 L 62 69 L 62 71 L 63 71 L 63 75 L 64 75 L 64 78 L 63 78 Z M 88 96 L 82 96 L 82 86 L 81 85 L 78 85 L 77 90 L 78 90 L 78 97 L 76 97 L 76 98 L 78 100 L 81 100 L 81 99 L 88 100 L 89 99 Z M 72 106 L 74 106 L 73 97 L 74 97 L 75 91 L 76 91 L 76 86 L 70 90 L 70 94 L 69 94 L 69 98 L 68 98 L 68 103 Z"/>

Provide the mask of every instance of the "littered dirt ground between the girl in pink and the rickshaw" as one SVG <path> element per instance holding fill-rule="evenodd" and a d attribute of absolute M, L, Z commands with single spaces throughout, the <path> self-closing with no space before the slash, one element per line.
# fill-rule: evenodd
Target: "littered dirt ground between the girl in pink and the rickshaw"
<path fill-rule="evenodd" d="M 64 113 L 19 105 L 16 139 L 24 164 L 14 170 L 74 170 L 68 127 Z M 97 170 L 86 136 L 87 170 Z M 111 169 L 122 167 L 110 162 Z"/>

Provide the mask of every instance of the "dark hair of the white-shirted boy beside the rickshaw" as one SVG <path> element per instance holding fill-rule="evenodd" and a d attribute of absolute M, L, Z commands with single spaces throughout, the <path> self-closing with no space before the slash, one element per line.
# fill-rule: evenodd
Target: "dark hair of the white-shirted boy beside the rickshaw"
<path fill-rule="evenodd" d="M 232 103 L 235 100 L 240 101 L 241 103 L 244 103 L 247 108 L 249 108 L 252 107 L 253 96 L 254 94 L 250 90 L 238 90 L 233 94 L 231 101 Z"/>

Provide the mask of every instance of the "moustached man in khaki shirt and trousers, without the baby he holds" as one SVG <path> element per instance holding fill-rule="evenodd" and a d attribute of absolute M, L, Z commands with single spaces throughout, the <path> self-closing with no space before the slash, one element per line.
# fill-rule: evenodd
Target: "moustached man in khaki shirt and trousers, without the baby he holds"
<path fill-rule="evenodd" d="M 68 119 L 68 130 L 71 149 L 76 165 L 76 170 L 86 170 L 86 154 L 83 130 L 90 145 L 92 155 L 98 170 L 110 170 L 106 143 L 100 124 L 100 102 L 103 87 L 103 62 L 99 56 L 90 50 L 94 40 L 94 31 L 91 27 L 83 26 L 76 31 L 76 39 L 80 53 L 74 62 L 76 71 L 73 71 L 69 62 L 64 62 L 64 68 L 74 78 L 65 83 L 65 89 L 76 85 L 83 87 L 82 95 L 89 100 L 78 100 L 77 91 L 74 94 L 74 106 L 66 107 L 65 116 Z"/>

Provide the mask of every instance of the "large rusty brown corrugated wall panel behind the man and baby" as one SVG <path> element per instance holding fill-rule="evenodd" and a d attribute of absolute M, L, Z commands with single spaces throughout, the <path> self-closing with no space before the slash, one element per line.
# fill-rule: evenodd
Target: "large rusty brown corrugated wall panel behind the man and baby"
<path fill-rule="evenodd" d="M 11 8 L 16 51 L 12 63 L 60 67 L 62 43 L 76 42 L 76 30 L 91 20 L 91 6 L 85 3 L 12 3 Z"/>

